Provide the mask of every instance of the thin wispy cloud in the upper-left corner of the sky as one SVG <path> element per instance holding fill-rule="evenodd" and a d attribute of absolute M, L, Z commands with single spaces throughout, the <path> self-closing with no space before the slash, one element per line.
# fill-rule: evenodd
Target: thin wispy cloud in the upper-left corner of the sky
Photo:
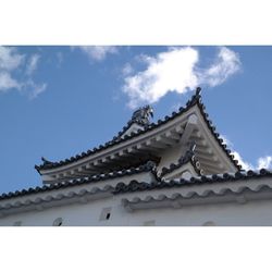
<path fill-rule="evenodd" d="M 0 46 L 0 91 L 15 89 L 30 99 L 45 91 L 47 84 L 37 84 L 32 78 L 39 58 L 39 54 L 28 57 L 18 53 L 14 47 Z"/>

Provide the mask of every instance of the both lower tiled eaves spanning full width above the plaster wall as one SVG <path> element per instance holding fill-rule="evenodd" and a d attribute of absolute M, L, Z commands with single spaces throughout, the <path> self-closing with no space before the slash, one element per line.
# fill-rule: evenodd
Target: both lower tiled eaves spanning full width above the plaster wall
<path fill-rule="evenodd" d="M 109 178 L 101 184 L 77 181 L 71 184 L 62 183 L 46 188 L 45 186 L 40 189 L 35 188 L 26 194 L 24 191 L 23 195 L 1 196 L 0 217 L 72 203 L 86 203 L 113 196 L 120 199 L 127 211 L 227 201 L 245 203 L 248 200 L 272 197 L 272 172 L 264 169 L 259 172 L 224 173 L 170 182 L 158 178 L 153 169 L 145 171 L 147 175 L 143 177 L 139 172 L 134 173 L 133 181 L 128 178 L 126 182 L 120 182 L 122 177 Z M 152 180 L 143 182 L 147 181 L 148 174 L 152 174 Z"/>

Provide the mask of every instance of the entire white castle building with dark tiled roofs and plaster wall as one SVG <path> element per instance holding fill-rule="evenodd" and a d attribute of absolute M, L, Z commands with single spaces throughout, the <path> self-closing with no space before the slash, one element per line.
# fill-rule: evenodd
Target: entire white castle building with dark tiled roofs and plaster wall
<path fill-rule="evenodd" d="M 200 88 L 151 123 L 152 108 L 91 150 L 36 165 L 44 185 L 0 196 L 0 225 L 272 225 L 272 172 L 243 171 Z"/>

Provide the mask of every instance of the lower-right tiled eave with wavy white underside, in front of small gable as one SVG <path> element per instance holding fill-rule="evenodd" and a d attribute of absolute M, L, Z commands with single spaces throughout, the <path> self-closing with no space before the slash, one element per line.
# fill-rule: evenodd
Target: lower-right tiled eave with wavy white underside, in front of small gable
<path fill-rule="evenodd" d="M 132 183 L 116 185 L 115 195 L 122 195 L 127 211 L 184 206 L 265 200 L 272 197 L 272 172 L 248 171 L 236 174 L 191 177 L 157 184 Z"/>

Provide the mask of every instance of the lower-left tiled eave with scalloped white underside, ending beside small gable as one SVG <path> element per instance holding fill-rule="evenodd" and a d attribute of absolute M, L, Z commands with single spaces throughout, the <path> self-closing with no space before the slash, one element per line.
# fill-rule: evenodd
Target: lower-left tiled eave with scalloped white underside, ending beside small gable
<path fill-rule="evenodd" d="M 0 196 L 0 218 L 9 214 L 40 211 L 72 203 L 86 203 L 113 196 L 115 186 L 128 185 L 134 181 L 156 183 L 157 175 L 151 163 L 141 169 L 125 170 L 88 180 L 74 180 L 28 190 Z"/>

